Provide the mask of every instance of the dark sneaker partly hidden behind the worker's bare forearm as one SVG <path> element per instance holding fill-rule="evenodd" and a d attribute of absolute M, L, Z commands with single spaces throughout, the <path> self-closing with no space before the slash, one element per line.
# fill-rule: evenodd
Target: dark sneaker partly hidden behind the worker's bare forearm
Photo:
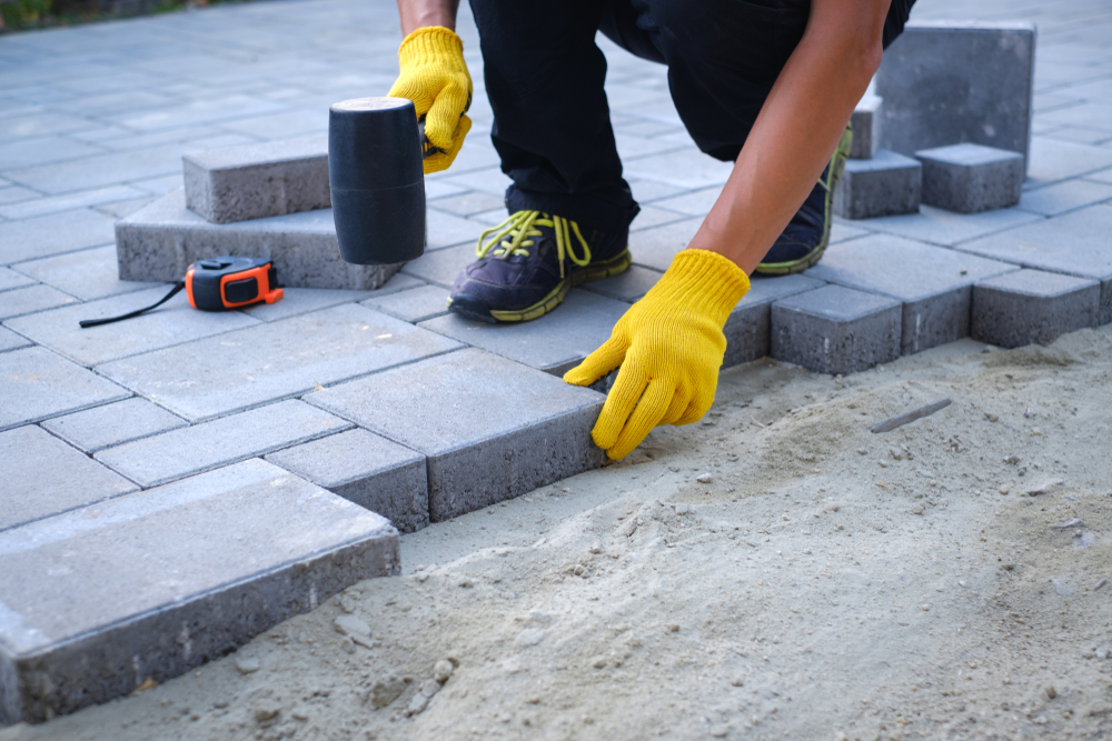
<path fill-rule="evenodd" d="M 831 241 L 834 189 L 837 188 L 837 181 L 845 170 L 845 161 L 850 157 L 852 144 L 853 129 L 846 126 L 830 164 L 823 170 L 807 200 L 792 217 L 784 233 L 757 266 L 757 272 L 770 276 L 802 272 L 823 257 L 823 251 Z"/>

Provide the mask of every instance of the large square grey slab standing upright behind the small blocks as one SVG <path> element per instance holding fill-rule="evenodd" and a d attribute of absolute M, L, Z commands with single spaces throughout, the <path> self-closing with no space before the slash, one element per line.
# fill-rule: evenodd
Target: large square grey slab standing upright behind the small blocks
<path fill-rule="evenodd" d="M 1034 56 L 1031 22 L 909 22 L 876 72 L 881 147 L 972 142 L 1026 158 Z"/>

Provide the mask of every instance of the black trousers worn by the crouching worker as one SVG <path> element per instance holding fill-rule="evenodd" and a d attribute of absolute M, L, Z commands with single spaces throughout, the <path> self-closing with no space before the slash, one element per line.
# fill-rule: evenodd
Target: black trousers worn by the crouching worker
<path fill-rule="evenodd" d="M 893 0 L 884 46 L 914 0 Z M 622 231 L 639 210 L 622 178 L 603 91 L 603 31 L 668 66 L 668 88 L 698 148 L 734 160 L 807 26 L 810 0 L 471 0 L 492 139 L 514 183 L 509 210 Z"/>

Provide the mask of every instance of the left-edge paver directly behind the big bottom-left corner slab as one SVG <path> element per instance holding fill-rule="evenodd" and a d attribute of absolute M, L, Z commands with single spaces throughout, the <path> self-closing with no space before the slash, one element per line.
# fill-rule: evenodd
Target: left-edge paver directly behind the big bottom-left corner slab
<path fill-rule="evenodd" d="M 0 532 L 138 489 L 33 424 L 0 432 L 0 480 L 8 492 L 0 498 Z"/>

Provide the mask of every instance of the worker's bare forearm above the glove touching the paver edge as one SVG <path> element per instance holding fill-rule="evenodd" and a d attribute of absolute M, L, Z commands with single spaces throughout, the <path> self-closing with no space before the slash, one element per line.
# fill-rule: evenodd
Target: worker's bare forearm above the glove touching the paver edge
<path fill-rule="evenodd" d="M 814 188 L 880 67 L 888 2 L 812 2 L 807 30 L 689 248 L 753 272 Z"/>

